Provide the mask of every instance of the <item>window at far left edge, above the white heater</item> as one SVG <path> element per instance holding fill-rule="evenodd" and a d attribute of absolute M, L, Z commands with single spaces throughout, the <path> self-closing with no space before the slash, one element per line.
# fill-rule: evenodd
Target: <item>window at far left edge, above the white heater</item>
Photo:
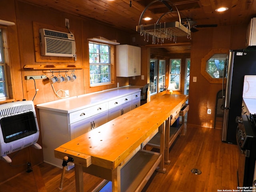
<path fill-rule="evenodd" d="M 0 29 L 0 99 L 9 98 L 2 30 Z"/>

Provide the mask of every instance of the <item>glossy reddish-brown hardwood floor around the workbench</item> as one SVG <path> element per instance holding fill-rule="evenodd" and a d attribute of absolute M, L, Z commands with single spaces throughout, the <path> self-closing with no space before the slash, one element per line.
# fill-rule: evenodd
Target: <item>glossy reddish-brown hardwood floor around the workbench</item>
<path fill-rule="evenodd" d="M 154 172 L 143 192 L 217 192 L 237 187 L 238 148 L 221 141 L 222 130 L 188 125 L 170 148 L 166 173 Z M 193 168 L 202 174 L 193 174 Z M 0 185 L 0 192 L 59 192 L 62 170 L 46 163 L 33 167 Z M 92 191 L 102 179 L 84 173 L 84 191 Z M 66 172 L 62 192 L 74 192 L 74 169 Z"/>

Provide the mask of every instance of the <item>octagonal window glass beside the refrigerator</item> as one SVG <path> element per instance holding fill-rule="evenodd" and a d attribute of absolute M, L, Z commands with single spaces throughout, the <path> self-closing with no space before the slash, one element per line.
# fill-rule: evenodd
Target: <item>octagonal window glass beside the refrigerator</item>
<path fill-rule="evenodd" d="M 224 75 L 226 58 L 227 54 L 214 54 L 206 62 L 206 72 L 208 72 L 212 78 L 222 78 Z"/>

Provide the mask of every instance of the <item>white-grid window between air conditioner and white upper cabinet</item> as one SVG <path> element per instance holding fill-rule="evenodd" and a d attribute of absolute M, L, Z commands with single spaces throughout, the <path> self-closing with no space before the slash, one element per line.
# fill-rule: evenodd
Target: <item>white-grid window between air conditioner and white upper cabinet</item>
<path fill-rule="evenodd" d="M 90 85 L 111 83 L 110 46 L 89 42 Z"/>

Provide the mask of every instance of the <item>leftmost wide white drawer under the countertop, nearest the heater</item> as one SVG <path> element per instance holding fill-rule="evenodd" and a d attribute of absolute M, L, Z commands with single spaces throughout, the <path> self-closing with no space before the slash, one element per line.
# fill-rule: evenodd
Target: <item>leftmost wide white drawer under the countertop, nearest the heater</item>
<path fill-rule="evenodd" d="M 69 114 L 69 123 L 74 123 L 108 110 L 108 103 L 102 103 Z"/>

